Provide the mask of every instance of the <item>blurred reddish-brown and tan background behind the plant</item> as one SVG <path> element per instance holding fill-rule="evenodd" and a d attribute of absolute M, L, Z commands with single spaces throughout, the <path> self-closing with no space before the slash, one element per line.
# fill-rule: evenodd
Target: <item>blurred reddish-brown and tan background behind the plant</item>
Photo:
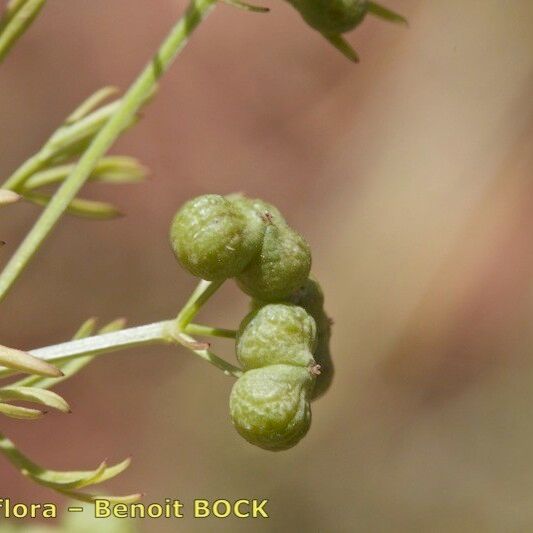
<path fill-rule="evenodd" d="M 70 416 L 2 420 L 51 468 L 131 455 L 107 492 L 269 499 L 268 520 L 189 513 L 141 531 L 533 528 L 533 3 L 385 3 L 410 26 L 367 19 L 349 35 L 359 65 L 284 2 L 262 16 L 221 4 L 113 148 L 151 179 L 86 188 L 127 216 L 65 217 L 2 304 L 2 344 L 23 349 L 90 316 L 174 316 L 195 281 L 169 221 L 203 193 L 263 197 L 310 241 L 337 373 L 296 448 L 239 438 L 232 380 L 170 347 L 96 360 L 58 388 Z M 49 0 L 1 68 L 2 180 L 83 98 L 127 88 L 185 5 Z M 0 263 L 39 212 L 5 210 Z M 227 285 L 205 322 L 246 312 Z M 3 458 L 0 492 L 64 503 Z"/>

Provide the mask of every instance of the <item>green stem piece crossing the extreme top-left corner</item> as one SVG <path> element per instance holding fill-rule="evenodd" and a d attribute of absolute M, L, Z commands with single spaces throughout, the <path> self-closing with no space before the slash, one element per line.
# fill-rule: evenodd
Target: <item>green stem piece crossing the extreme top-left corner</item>
<path fill-rule="evenodd" d="M 29 28 L 46 0 L 12 0 L 0 20 L 0 63 Z"/>

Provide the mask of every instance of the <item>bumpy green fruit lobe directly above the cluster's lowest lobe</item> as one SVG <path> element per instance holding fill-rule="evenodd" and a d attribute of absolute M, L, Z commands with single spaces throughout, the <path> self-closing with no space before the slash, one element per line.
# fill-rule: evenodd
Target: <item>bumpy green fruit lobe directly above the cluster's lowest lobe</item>
<path fill-rule="evenodd" d="M 245 370 L 275 364 L 315 365 L 316 325 L 296 305 L 269 304 L 252 311 L 237 333 L 237 358 Z"/>

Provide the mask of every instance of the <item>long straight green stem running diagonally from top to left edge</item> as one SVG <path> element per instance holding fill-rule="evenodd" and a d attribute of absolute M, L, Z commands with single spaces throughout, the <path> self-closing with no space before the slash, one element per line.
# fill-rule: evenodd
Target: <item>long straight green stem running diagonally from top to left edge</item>
<path fill-rule="evenodd" d="M 152 61 L 145 67 L 121 99 L 113 116 L 94 137 L 70 176 L 58 189 L 34 227 L 4 268 L 0 275 L 0 301 L 5 298 L 14 282 L 53 230 L 61 215 L 76 197 L 98 160 L 109 150 L 129 121 L 152 94 L 159 78 L 185 47 L 193 31 L 208 15 L 215 3 L 216 0 L 191 1 L 183 17 L 172 28 Z"/>

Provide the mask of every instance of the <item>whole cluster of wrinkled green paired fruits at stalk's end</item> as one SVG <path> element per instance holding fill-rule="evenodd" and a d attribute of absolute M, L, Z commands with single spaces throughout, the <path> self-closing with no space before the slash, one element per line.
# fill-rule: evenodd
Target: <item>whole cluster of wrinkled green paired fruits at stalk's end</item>
<path fill-rule="evenodd" d="M 241 195 L 187 202 L 170 232 L 180 264 L 212 281 L 235 278 L 252 297 L 236 338 L 244 374 L 230 396 L 237 431 L 268 450 L 294 446 L 311 423 L 310 402 L 329 387 L 331 323 L 311 252 L 274 206 Z"/>

